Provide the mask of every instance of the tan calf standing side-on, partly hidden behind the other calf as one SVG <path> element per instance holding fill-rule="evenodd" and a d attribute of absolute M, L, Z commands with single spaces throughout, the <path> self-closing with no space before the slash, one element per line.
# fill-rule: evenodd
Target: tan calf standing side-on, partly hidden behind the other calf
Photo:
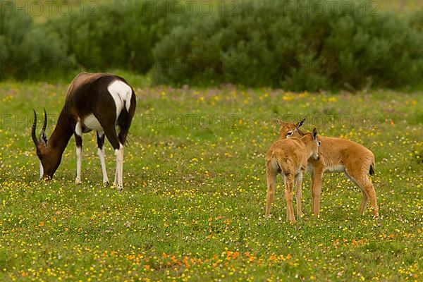
<path fill-rule="evenodd" d="M 302 137 L 300 130 L 305 118 L 299 123 L 279 122 L 279 140 L 287 137 Z M 307 171 L 312 175 L 312 211 L 314 216 L 319 216 L 319 201 L 321 195 L 321 183 L 325 172 L 343 172 L 362 191 L 360 214 L 364 214 L 367 201 L 373 207 L 374 216 L 378 216 L 376 192 L 369 180 L 367 173 L 374 175 L 374 154 L 372 151 L 356 142 L 341 138 L 319 136 L 319 160 L 309 159 Z"/>

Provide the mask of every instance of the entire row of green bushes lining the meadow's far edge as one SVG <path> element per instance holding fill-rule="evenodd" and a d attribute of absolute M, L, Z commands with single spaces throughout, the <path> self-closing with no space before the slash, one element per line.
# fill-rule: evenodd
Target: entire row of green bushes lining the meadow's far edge
<path fill-rule="evenodd" d="M 317 0 L 244 0 L 225 10 L 219 2 L 209 16 L 187 6 L 185 13 L 157 8 L 176 3 L 112 1 L 44 23 L 2 12 L 0 79 L 118 68 L 150 72 L 156 83 L 310 91 L 422 79 L 422 11 L 374 14 L 362 1 L 353 2 L 353 13 L 342 1 L 323 13 L 299 8 L 326 3 Z"/>

